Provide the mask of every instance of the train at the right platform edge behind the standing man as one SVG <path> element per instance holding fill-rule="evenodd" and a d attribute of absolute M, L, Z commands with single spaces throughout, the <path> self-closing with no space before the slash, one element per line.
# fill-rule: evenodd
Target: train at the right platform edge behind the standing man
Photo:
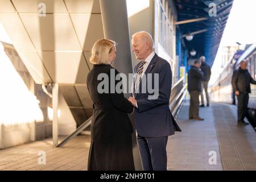
<path fill-rule="evenodd" d="M 247 69 L 251 77 L 256 80 L 256 43 L 251 44 L 245 50 L 238 50 L 234 53 L 216 82 L 210 87 L 210 98 L 212 101 L 237 105 L 237 98 L 233 92 L 231 81 L 233 72 L 240 67 L 241 61 L 247 62 Z M 253 84 L 251 84 L 246 118 L 256 130 L 256 85 Z"/>

